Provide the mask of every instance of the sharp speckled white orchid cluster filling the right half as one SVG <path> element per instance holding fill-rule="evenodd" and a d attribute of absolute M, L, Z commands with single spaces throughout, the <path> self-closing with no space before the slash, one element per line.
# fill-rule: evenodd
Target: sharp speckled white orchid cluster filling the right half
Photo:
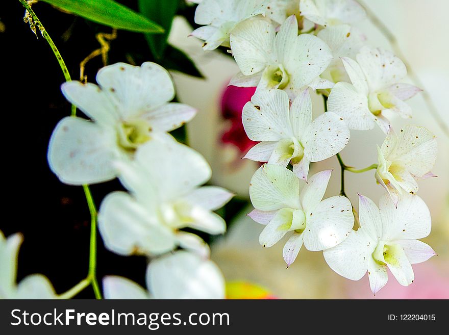
<path fill-rule="evenodd" d="M 420 89 L 401 82 L 403 61 L 365 45 L 364 35 L 349 25 L 365 17 L 355 0 L 202 0 L 195 22 L 203 27 L 192 35 L 205 40 L 204 49 L 231 48 L 240 72 L 230 85 L 257 87 L 242 121 L 247 136 L 260 142 L 245 157 L 268 162 L 250 184 L 255 210 L 249 215 L 265 225 L 260 244 L 270 247 L 289 234 L 287 265 L 304 244 L 323 250 L 329 266 L 346 278 L 368 272 L 376 293 L 387 282 L 387 268 L 408 286 L 411 264 L 435 254 L 417 240 L 429 235 L 431 218 L 415 194 L 416 179 L 432 176 L 437 147 L 426 128 L 393 131 L 385 114 L 409 118 L 404 101 Z M 326 113 L 314 120 L 309 88 L 328 99 Z M 378 148 L 376 179 L 388 194 L 379 208 L 360 196 L 356 231 L 350 200 L 322 200 L 331 171 L 308 177 L 309 164 L 340 152 L 350 130 L 375 124 L 387 134 Z"/>

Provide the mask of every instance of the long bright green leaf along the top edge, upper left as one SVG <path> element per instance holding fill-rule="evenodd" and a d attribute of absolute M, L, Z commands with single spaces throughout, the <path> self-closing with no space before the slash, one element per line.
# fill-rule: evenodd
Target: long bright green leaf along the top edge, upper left
<path fill-rule="evenodd" d="M 160 25 L 113 0 L 42 0 L 55 7 L 112 28 L 140 33 L 163 33 Z"/>

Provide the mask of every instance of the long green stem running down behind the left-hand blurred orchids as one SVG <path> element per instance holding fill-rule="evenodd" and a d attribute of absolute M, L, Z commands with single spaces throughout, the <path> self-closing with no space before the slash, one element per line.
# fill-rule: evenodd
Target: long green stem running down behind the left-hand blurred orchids
<path fill-rule="evenodd" d="M 30 27 L 35 32 L 35 28 L 37 27 L 44 37 L 44 39 L 48 42 L 50 47 L 53 50 L 53 53 L 55 54 L 56 59 L 58 60 L 59 66 L 62 69 L 62 72 L 64 74 L 64 78 L 66 82 L 70 82 L 70 73 L 68 72 L 67 66 L 65 65 L 64 60 L 62 59 L 61 54 L 59 53 L 58 48 L 56 47 L 55 43 L 53 42 L 50 35 L 48 35 L 47 31 L 43 27 L 42 23 L 40 22 L 39 18 L 37 17 L 36 13 L 31 9 L 31 5 L 26 0 L 19 0 L 19 2 L 22 4 L 22 6 L 27 10 L 26 13 L 26 21 L 30 20 Z M 29 16 L 27 16 L 29 14 Z M 36 35 L 37 36 L 37 35 Z M 77 115 L 77 107 L 75 105 L 71 106 L 71 116 L 74 117 Z M 66 293 L 62 294 L 61 297 L 72 297 L 76 294 L 78 294 L 80 291 L 84 290 L 89 284 L 92 285 L 93 292 L 95 294 L 96 299 L 102 299 L 101 292 L 99 290 L 98 281 L 96 279 L 96 208 L 95 204 L 93 202 L 92 194 L 90 193 L 90 189 L 88 185 L 83 185 L 84 194 L 86 196 L 87 205 L 89 207 L 90 212 L 90 249 L 89 249 L 89 273 L 86 279 L 83 279 L 80 281 L 80 283 L 76 286 L 74 286 L 72 289 L 68 290 Z M 86 285 L 87 282 L 87 285 Z M 72 295 L 70 295 L 72 294 Z M 65 299 L 68 299 L 65 298 Z M 64 298 L 62 298 L 64 299 Z"/>

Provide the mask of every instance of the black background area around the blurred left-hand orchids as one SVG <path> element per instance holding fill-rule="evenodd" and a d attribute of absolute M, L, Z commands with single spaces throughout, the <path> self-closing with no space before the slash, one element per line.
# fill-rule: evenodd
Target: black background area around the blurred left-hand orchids
<path fill-rule="evenodd" d="M 137 9 L 136 2 L 127 6 Z M 134 7 L 133 7 L 134 6 Z M 99 47 L 98 32 L 111 28 L 63 13 L 46 3 L 33 10 L 58 47 L 73 80 L 79 80 L 80 62 Z M 194 8 L 179 11 L 193 18 Z M 6 237 L 20 232 L 24 236 L 19 252 L 17 282 L 32 273 L 42 273 L 58 294 L 70 289 L 88 273 L 90 215 L 82 187 L 67 186 L 49 170 L 46 152 L 57 122 L 70 115 L 70 105 L 60 92 L 64 76 L 51 48 L 23 22 L 24 9 L 17 0 L 0 4 L 0 64 L 3 124 L 3 199 L 4 219 L 0 230 Z M 111 42 L 109 63 L 136 65 L 151 61 L 151 51 L 142 34 L 118 31 Z M 177 66 L 174 62 L 173 66 Z M 103 66 L 101 57 L 91 60 L 85 74 L 95 82 Z M 168 67 L 168 66 L 166 66 Z M 79 116 L 83 116 L 78 111 Z M 122 189 L 118 181 L 92 185 L 97 208 L 103 197 Z M 232 203 L 220 214 L 231 217 L 240 204 Z M 207 236 L 203 236 L 207 238 Z M 145 285 L 145 257 L 118 256 L 105 249 L 97 238 L 97 278 L 121 275 Z M 93 298 L 91 287 L 77 298 Z"/>

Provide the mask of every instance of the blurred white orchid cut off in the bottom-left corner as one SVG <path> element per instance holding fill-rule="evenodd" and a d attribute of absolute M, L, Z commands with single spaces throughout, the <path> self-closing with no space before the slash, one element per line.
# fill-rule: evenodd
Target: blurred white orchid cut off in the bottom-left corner
<path fill-rule="evenodd" d="M 56 299 L 47 277 L 32 274 L 16 284 L 17 255 L 23 238 L 14 234 L 5 238 L 0 230 L 0 299 Z"/>

